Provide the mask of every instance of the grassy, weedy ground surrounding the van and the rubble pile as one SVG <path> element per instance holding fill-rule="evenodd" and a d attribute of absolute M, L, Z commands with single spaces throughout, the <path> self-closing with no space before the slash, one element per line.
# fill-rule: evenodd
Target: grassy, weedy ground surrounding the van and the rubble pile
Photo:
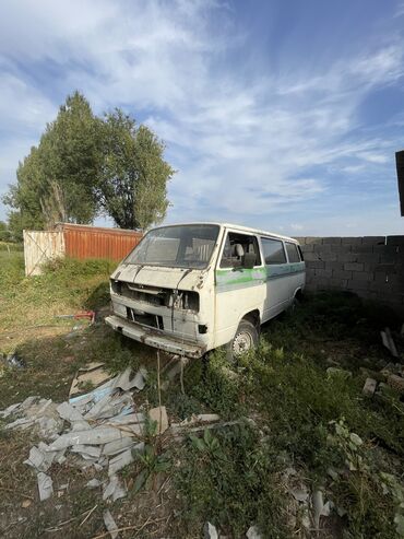
<path fill-rule="evenodd" d="M 55 318 L 105 307 L 111 270 L 108 261 L 64 260 L 24 278 L 21 251 L 0 249 L 0 351 L 16 350 L 26 363 L 2 371 L 0 409 L 28 395 L 66 400 L 74 372 L 90 361 L 104 361 L 111 372 L 145 365 L 150 376 L 136 401 L 144 408 L 158 403 L 154 350 L 102 321 L 68 337 L 75 323 Z M 379 372 L 390 361 L 380 327 L 396 323 L 390 312 L 356 296 L 320 294 L 268 324 L 257 352 L 236 365 L 221 351 L 191 362 L 185 392 L 175 383 L 162 395 L 171 421 L 214 412 L 237 423 L 181 444 L 162 441 L 146 464 L 126 468 L 129 496 L 109 506 L 119 527 L 132 527 L 121 536 L 199 538 L 210 520 L 236 539 L 251 525 L 264 538 L 400 537 L 404 406 L 393 390 L 373 398 L 361 391 L 367 371 Z M 0 430 L 0 535 L 104 534 L 106 503 L 84 488 L 87 473 L 59 466 L 56 483 L 69 480 L 71 487 L 61 497 L 37 501 L 34 473 L 23 465 L 35 441 L 35 433 Z M 152 481 L 136 493 L 145 467 Z M 319 531 L 307 531 L 311 507 L 290 492 L 319 488 L 334 508 L 321 517 Z M 59 532 L 47 531 L 57 525 Z"/>

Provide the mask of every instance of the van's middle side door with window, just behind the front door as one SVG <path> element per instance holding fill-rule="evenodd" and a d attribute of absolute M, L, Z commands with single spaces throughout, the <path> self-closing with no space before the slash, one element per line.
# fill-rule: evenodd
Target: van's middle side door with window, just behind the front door
<path fill-rule="evenodd" d="M 261 236 L 262 255 L 266 269 L 266 294 L 263 321 L 282 313 L 290 302 L 290 282 L 284 243 Z"/>

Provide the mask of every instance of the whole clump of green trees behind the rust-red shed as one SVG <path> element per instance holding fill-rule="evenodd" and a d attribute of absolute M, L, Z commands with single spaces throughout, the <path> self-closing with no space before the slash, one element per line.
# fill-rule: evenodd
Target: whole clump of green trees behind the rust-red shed
<path fill-rule="evenodd" d="M 82 94 L 68 96 L 3 197 L 12 209 L 13 237 L 57 222 L 92 223 L 99 212 L 126 229 L 162 221 L 174 174 L 164 149 L 151 129 L 122 110 L 98 118 Z"/>

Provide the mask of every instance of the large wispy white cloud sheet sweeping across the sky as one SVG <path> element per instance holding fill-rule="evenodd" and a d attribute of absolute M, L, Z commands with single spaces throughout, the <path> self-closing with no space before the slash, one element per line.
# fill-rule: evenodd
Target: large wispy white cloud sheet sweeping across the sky
<path fill-rule="evenodd" d="M 402 43 L 323 69 L 307 62 L 263 77 L 257 66 L 247 80 L 225 61 L 242 39 L 215 1 L 9 0 L 0 19 L 0 55 L 11 66 L 52 66 L 58 87 L 79 87 L 97 112 L 121 105 L 147 116 L 179 169 L 169 220 L 253 222 L 324 196 L 331 186 L 316 167 L 349 175 L 389 162 L 389 140 L 350 133 L 368 92 L 403 75 Z M 0 121 L 16 119 L 17 153 L 57 107 L 10 65 Z"/>

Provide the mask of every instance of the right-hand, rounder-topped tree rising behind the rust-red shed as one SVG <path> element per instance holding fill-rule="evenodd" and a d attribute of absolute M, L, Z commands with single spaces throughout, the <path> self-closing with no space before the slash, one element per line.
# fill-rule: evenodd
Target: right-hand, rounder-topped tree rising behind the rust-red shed
<path fill-rule="evenodd" d="M 100 208 L 122 229 L 145 230 L 161 222 L 169 204 L 167 181 L 175 173 L 164 160 L 164 143 L 119 108 L 105 116 L 102 132 Z"/>

